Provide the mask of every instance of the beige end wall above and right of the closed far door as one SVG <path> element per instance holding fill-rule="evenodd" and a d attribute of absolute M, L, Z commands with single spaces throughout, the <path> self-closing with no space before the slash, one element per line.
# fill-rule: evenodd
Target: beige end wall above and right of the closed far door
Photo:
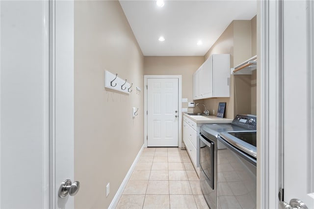
<path fill-rule="evenodd" d="M 145 56 L 145 75 L 182 75 L 182 98 L 193 102 L 193 73 L 204 63 L 204 56 Z M 186 108 L 187 103 L 182 103 Z M 188 108 L 193 112 L 193 108 Z"/>

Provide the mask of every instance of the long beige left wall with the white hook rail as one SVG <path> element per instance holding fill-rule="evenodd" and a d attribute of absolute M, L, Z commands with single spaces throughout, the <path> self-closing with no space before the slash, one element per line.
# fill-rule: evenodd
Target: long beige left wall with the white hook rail
<path fill-rule="evenodd" d="M 75 1 L 75 208 L 108 208 L 143 145 L 143 55 L 119 1 Z M 133 83 L 104 88 L 104 70 Z M 139 115 L 131 116 L 131 107 Z M 110 193 L 106 197 L 106 184 Z"/>

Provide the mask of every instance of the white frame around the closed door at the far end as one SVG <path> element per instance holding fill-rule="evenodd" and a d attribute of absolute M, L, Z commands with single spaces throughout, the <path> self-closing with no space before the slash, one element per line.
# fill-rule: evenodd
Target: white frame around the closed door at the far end
<path fill-rule="evenodd" d="M 182 75 L 144 75 L 144 147 L 147 147 L 147 79 L 148 78 L 178 78 L 178 147 L 182 147 Z"/>

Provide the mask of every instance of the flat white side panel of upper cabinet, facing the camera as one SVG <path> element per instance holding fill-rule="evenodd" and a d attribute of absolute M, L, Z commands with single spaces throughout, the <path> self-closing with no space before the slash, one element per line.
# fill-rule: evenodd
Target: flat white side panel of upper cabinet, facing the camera
<path fill-rule="evenodd" d="M 230 97 L 230 55 L 212 55 L 213 95 L 211 97 Z"/>

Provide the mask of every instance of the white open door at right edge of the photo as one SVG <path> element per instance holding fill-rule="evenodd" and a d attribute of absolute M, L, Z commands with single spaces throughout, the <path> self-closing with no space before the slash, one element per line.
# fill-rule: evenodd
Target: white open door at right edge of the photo
<path fill-rule="evenodd" d="M 284 200 L 314 209 L 314 3 L 287 0 L 283 11 Z"/>

